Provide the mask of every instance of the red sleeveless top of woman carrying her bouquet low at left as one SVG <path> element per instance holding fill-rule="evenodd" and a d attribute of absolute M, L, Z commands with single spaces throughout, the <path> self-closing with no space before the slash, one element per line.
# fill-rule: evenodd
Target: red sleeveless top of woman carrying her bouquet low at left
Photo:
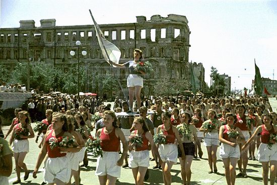
<path fill-rule="evenodd" d="M 119 151 L 120 139 L 115 135 L 115 128 L 109 134 L 105 134 L 104 128 L 102 128 L 100 140 L 103 151 Z"/>

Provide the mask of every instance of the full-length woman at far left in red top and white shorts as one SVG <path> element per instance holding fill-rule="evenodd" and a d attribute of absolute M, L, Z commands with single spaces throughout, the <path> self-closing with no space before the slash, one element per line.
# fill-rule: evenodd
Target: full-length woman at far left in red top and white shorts
<path fill-rule="evenodd" d="M 24 180 L 29 177 L 29 170 L 27 169 L 24 159 L 26 154 L 29 152 L 29 141 L 28 138 L 35 137 L 34 131 L 31 127 L 31 119 L 27 111 L 19 112 L 20 123 L 16 124 L 12 131 L 12 137 L 10 139 L 10 145 L 14 142 L 13 150 L 16 161 L 16 174 L 17 180 L 13 184 L 20 183 L 20 170 L 24 169 L 25 175 Z M 30 133 L 30 134 L 29 134 Z"/>

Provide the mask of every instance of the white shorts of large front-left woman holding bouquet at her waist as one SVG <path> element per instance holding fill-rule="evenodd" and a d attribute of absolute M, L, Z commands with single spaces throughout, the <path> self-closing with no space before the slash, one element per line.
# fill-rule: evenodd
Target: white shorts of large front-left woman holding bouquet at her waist
<path fill-rule="evenodd" d="M 44 181 L 53 183 L 57 178 L 64 183 L 68 183 L 71 177 L 70 160 L 65 155 L 63 157 L 48 158 L 43 172 Z"/>

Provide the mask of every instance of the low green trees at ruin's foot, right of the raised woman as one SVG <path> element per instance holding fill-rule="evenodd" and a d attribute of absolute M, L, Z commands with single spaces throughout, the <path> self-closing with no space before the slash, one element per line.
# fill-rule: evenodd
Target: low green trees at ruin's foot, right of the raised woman
<path fill-rule="evenodd" d="M 184 94 L 185 90 L 190 88 L 190 83 L 186 80 L 180 81 L 177 79 L 168 80 L 158 79 L 154 84 L 154 93 L 156 95 L 178 95 Z"/>

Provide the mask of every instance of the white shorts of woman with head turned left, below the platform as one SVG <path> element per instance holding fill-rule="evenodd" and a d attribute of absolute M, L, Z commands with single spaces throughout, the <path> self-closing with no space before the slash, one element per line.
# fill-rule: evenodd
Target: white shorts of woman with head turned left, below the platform
<path fill-rule="evenodd" d="M 132 150 L 129 155 L 129 167 L 135 168 L 138 166 L 148 167 L 149 166 L 149 151 L 135 151 Z"/>

